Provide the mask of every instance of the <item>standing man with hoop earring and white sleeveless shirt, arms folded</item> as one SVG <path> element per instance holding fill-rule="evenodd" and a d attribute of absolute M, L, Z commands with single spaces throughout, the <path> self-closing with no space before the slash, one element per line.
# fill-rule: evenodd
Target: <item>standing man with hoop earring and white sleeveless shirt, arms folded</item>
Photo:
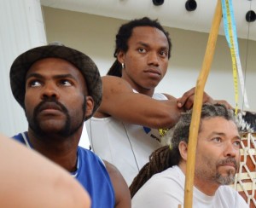
<path fill-rule="evenodd" d="M 172 43 L 157 20 L 131 20 L 116 35 L 116 61 L 102 78 L 102 103 L 86 122 L 90 146 L 115 165 L 128 185 L 160 147 L 159 129 L 171 128 L 193 106 L 195 89 L 180 99 L 155 93 L 164 78 Z M 213 102 L 204 94 L 204 102 Z"/>

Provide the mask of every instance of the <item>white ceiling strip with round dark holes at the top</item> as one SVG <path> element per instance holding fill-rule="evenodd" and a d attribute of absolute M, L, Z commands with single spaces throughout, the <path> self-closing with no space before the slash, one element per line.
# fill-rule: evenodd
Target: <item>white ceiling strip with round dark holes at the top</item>
<path fill-rule="evenodd" d="M 154 6 L 152 0 L 40 0 L 41 4 L 57 9 L 67 9 L 131 20 L 143 16 L 160 20 L 163 26 L 181 28 L 197 32 L 209 32 L 217 0 L 196 0 L 197 9 L 188 12 L 187 0 L 166 0 Z M 247 11 L 256 12 L 256 0 L 232 0 L 239 38 L 256 40 L 256 21 L 248 23 Z M 224 34 L 221 23 L 220 34 Z"/>

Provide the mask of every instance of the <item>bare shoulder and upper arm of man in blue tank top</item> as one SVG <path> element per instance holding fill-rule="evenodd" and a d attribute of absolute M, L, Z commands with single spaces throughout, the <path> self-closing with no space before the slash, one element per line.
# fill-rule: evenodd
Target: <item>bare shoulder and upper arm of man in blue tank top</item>
<path fill-rule="evenodd" d="M 119 170 L 108 161 L 104 160 L 106 169 L 113 184 L 115 193 L 115 207 L 117 208 L 130 208 L 131 207 L 131 194 L 124 177 Z"/>

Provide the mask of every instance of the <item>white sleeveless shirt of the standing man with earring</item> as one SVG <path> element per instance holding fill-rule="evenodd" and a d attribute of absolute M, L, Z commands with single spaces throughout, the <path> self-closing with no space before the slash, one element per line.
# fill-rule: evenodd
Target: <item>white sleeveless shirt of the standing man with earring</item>
<path fill-rule="evenodd" d="M 153 98 L 167 100 L 160 93 L 155 93 Z M 92 117 L 85 124 L 94 153 L 115 165 L 128 186 L 143 165 L 148 163 L 149 155 L 160 147 L 158 130 L 127 124 L 113 117 Z"/>

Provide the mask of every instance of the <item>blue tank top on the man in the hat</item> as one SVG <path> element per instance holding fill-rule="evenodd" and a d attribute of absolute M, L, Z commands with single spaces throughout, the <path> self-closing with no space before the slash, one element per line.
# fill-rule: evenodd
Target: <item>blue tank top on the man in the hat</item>
<path fill-rule="evenodd" d="M 13 138 L 32 148 L 27 133 L 23 133 L 23 136 L 20 133 Z M 72 174 L 90 194 L 91 207 L 113 208 L 115 204 L 113 186 L 102 159 L 90 150 L 78 147 L 77 164 L 78 168 Z"/>

